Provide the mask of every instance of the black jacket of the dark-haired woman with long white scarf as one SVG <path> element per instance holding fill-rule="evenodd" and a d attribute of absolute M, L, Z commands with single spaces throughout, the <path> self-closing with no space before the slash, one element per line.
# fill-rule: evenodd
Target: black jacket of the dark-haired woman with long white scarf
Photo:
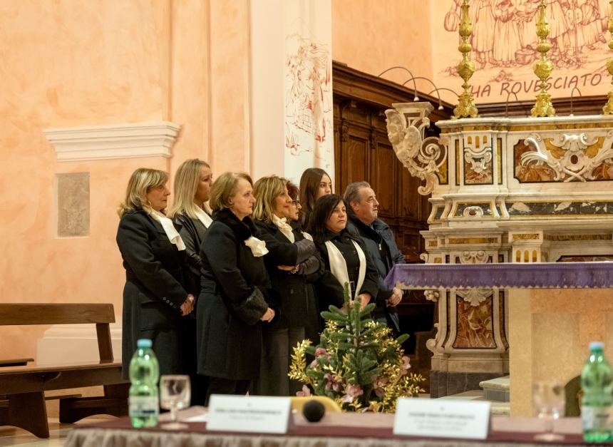
<path fill-rule="evenodd" d="M 319 307 L 322 310 L 327 310 L 330 304 L 334 304 L 336 307 L 341 307 L 344 304 L 344 287 L 330 271 L 330 260 L 328 257 L 328 249 L 326 248 L 327 241 L 331 240 L 334 242 L 334 239 L 338 237 L 350 237 L 352 240 L 355 240 L 364 251 L 366 257 L 366 276 L 364 277 L 364 284 L 362 284 L 358 294 L 369 293 L 371 294 L 371 302 L 374 302 L 378 293 L 378 274 L 361 237 L 352 234 L 346 229 L 336 234 L 327 232 L 324 237 L 319 237 L 315 240 L 315 245 L 319 250 L 321 259 L 324 260 L 325 268 L 324 274 L 315 286 L 317 298 L 319 299 Z"/>

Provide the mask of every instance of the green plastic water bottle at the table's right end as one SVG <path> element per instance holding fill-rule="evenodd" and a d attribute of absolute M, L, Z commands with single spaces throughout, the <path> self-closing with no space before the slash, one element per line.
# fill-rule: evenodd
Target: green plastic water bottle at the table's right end
<path fill-rule="evenodd" d="M 610 416 L 613 409 L 613 374 L 609 361 L 602 354 L 601 341 L 589 344 L 589 357 L 581 371 L 583 400 L 581 418 L 585 442 L 613 441 Z"/>

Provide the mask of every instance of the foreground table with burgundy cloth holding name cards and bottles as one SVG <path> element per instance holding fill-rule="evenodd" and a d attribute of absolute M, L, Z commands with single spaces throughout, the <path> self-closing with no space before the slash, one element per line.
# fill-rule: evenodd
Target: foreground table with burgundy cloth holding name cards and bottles
<path fill-rule="evenodd" d="M 192 407 L 179 412 L 182 421 L 205 411 Z M 205 422 L 187 422 L 185 431 L 157 428 L 131 428 L 128 418 L 78 426 L 71 431 L 66 447 L 401 447 L 401 446 L 474 446 L 476 441 L 453 438 L 417 438 L 393 435 L 393 414 L 326 413 L 318 423 L 307 422 L 294 413 L 287 434 L 228 433 L 207 431 Z M 160 418 L 160 423 L 168 415 Z M 545 421 L 537 418 L 493 417 L 491 430 L 482 446 L 532 446 L 535 433 L 542 432 Z M 555 421 L 555 432 L 564 441 L 548 445 L 583 443 L 579 418 Z"/>

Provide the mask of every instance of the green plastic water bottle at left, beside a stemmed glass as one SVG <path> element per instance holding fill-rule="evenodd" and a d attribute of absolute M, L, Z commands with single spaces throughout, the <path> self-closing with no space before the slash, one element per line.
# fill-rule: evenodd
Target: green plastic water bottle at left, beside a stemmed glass
<path fill-rule="evenodd" d="M 151 349 L 151 340 L 140 339 L 136 346 L 138 349 L 130 361 L 130 421 L 135 428 L 155 427 L 160 413 L 160 366 Z"/>

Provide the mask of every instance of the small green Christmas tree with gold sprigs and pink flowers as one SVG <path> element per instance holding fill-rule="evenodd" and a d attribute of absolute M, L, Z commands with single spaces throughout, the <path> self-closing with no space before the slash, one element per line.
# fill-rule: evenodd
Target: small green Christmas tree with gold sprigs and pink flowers
<path fill-rule="evenodd" d="M 391 329 L 371 319 L 375 304 L 360 310 L 359 302 L 349 299 L 349 284 L 344 300 L 343 309 L 330 306 L 321 312 L 326 328 L 318 346 L 306 339 L 294 348 L 289 377 L 305 384 L 303 394 L 310 393 L 310 386 L 344 411 L 396 411 L 399 397 L 423 393 L 419 384 L 424 379 L 408 372 L 411 365 L 401 347 L 408 335 L 393 339 Z M 306 354 L 315 357 L 308 365 Z"/>

